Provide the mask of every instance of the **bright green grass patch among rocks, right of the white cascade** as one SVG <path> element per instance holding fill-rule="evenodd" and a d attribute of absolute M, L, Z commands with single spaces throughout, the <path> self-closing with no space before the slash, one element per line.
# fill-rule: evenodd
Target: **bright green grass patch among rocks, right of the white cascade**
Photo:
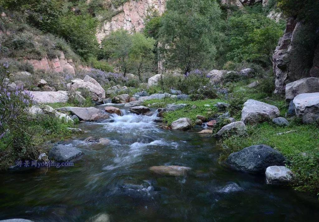
<path fill-rule="evenodd" d="M 157 107 L 155 108 L 164 108 L 168 103 L 185 103 L 187 106 L 183 109 L 176 110 L 176 111 L 170 111 L 165 112 L 163 116 L 163 120 L 167 122 L 168 125 L 171 125 L 173 121 L 179 119 L 179 118 L 189 118 L 192 120 L 193 125 L 196 121 L 197 115 L 202 115 L 205 117 L 210 117 L 214 113 L 217 113 L 217 108 L 214 107 L 214 104 L 217 102 L 225 102 L 225 100 L 222 99 L 206 99 L 206 100 L 198 100 L 198 101 L 190 101 L 190 100 L 174 100 L 174 99 L 152 99 L 152 100 L 146 100 L 144 101 L 143 105 L 147 106 L 152 103 L 159 103 Z M 204 106 L 205 104 L 209 104 L 210 106 Z M 193 105 L 196 106 L 195 109 L 191 108 Z M 207 110 L 211 109 L 211 110 Z M 212 112 L 210 115 L 208 112 Z"/>

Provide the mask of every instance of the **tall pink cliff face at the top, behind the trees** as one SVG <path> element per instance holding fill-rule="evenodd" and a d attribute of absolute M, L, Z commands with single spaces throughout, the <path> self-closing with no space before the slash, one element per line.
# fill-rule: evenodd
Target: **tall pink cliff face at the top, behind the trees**
<path fill-rule="evenodd" d="M 165 11 L 166 0 L 129 0 L 120 8 L 111 21 L 105 21 L 97 30 L 96 37 L 101 43 L 102 39 L 117 29 L 125 29 L 130 33 L 140 32 L 144 28 L 144 19 L 148 10 L 153 7 L 161 15 Z"/>

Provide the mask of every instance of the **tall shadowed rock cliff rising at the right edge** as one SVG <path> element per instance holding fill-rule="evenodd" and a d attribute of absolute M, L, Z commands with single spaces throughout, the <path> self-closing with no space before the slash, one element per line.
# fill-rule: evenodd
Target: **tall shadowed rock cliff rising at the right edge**
<path fill-rule="evenodd" d="M 299 79 L 318 76 L 318 27 L 297 19 L 287 20 L 286 30 L 273 54 L 276 94 L 285 93 L 285 85 Z M 305 35 L 307 33 L 307 35 Z"/>

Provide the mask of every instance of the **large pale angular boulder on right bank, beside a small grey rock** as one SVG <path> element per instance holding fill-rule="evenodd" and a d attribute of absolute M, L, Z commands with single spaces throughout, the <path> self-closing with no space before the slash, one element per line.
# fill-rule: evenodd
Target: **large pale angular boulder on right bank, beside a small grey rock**
<path fill-rule="evenodd" d="M 279 110 L 276 106 L 249 99 L 244 103 L 241 111 L 241 121 L 247 123 L 260 123 L 268 121 L 279 116 Z"/>

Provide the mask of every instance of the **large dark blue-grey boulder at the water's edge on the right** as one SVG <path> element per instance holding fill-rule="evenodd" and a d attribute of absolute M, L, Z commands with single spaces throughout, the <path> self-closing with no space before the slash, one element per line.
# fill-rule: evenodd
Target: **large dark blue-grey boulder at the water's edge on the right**
<path fill-rule="evenodd" d="M 226 162 L 244 171 L 265 173 L 269 166 L 284 166 L 285 160 L 283 155 L 270 146 L 254 145 L 230 154 Z"/>

